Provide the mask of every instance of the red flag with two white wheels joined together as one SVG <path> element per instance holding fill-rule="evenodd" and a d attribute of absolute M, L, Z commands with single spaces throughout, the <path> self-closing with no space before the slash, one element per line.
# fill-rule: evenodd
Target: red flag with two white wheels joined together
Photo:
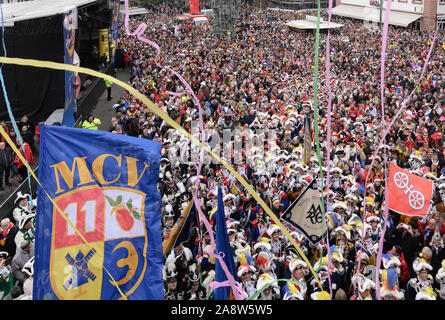
<path fill-rule="evenodd" d="M 409 173 L 390 163 L 388 208 L 409 216 L 428 214 L 433 194 L 433 181 Z"/>

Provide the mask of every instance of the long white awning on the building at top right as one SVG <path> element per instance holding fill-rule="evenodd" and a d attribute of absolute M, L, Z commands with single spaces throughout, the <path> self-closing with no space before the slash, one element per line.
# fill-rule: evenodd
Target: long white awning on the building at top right
<path fill-rule="evenodd" d="M 380 9 L 376 7 L 357 7 L 341 4 L 332 8 L 332 14 L 336 16 L 360 19 L 370 22 L 380 22 Z M 411 22 L 420 19 L 422 15 L 406 12 L 391 11 L 389 24 L 407 27 Z M 385 8 L 382 8 L 382 23 L 385 21 Z"/>

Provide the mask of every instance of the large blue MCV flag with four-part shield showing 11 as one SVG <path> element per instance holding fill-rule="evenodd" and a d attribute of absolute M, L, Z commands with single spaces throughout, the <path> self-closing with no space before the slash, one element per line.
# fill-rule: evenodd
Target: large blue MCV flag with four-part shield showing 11
<path fill-rule="evenodd" d="M 40 135 L 33 299 L 162 300 L 161 144 L 43 124 Z"/>

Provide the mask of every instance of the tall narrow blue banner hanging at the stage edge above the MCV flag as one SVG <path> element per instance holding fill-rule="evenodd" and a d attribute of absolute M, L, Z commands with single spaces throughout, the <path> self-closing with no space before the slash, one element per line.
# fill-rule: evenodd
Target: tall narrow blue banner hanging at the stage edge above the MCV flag
<path fill-rule="evenodd" d="M 63 43 L 65 48 L 65 64 L 73 64 L 75 30 L 73 21 L 76 18 L 77 9 L 69 10 L 63 14 Z M 62 124 L 74 126 L 74 72 L 65 71 L 65 106 Z"/>

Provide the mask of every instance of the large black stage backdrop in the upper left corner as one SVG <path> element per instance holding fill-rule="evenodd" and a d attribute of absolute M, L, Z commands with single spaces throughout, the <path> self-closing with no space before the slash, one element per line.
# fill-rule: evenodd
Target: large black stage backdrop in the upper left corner
<path fill-rule="evenodd" d="M 7 57 L 63 63 L 62 15 L 15 22 L 5 28 L 5 44 Z M 45 121 L 54 110 L 63 108 L 63 71 L 14 65 L 3 65 L 2 71 L 16 121 L 25 114 L 32 122 Z M 9 120 L 3 93 L 0 120 Z"/>

